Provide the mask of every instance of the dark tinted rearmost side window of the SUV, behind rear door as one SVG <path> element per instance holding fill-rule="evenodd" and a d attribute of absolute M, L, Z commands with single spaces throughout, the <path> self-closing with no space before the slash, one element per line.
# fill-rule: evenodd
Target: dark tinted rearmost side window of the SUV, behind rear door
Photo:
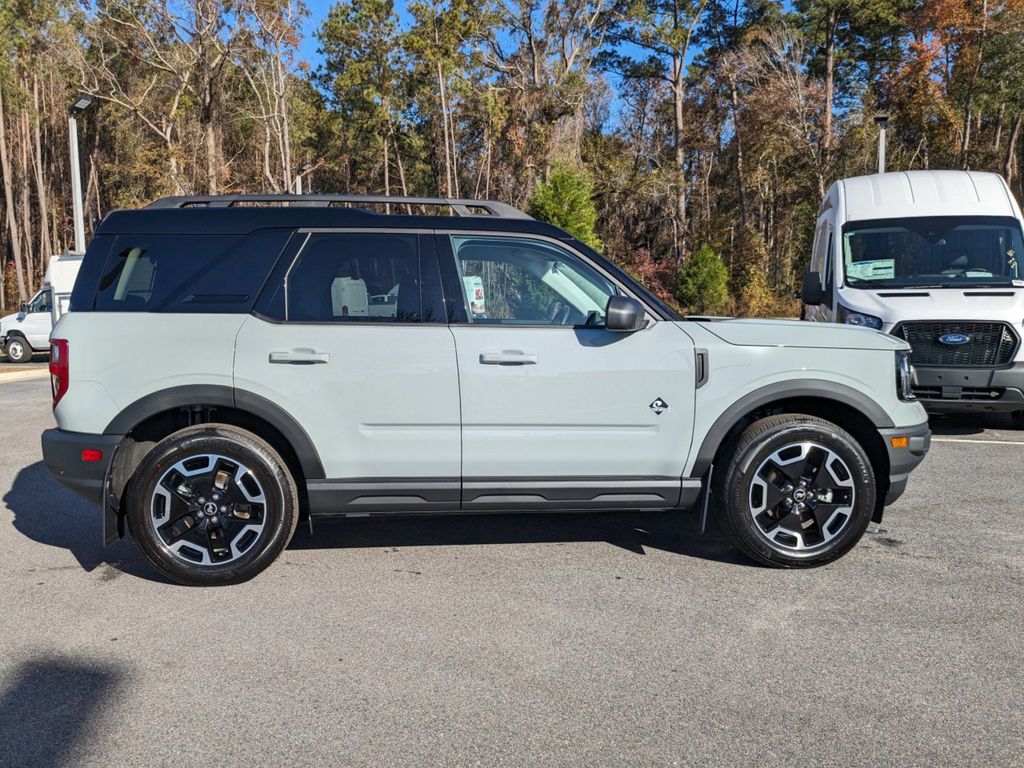
<path fill-rule="evenodd" d="M 99 278 L 94 309 L 248 312 L 290 234 L 120 236 Z"/>

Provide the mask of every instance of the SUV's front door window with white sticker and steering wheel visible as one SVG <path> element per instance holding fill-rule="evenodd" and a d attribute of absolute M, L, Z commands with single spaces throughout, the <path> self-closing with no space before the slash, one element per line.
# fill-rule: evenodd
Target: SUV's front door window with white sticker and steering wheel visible
<path fill-rule="evenodd" d="M 453 237 L 471 323 L 600 326 L 615 287 L 558 246 L 525 238 Z"/>

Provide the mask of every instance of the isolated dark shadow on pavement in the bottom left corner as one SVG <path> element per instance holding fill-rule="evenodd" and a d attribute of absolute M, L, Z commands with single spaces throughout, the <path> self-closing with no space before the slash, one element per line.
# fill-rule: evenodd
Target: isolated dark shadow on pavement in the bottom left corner
<path fill-rule="evenodd" d="M 20 664 L 0 691 L 0 764 L 78 765 L 81 743 L 124 677 L 110 664 L 63 656 Z"/>

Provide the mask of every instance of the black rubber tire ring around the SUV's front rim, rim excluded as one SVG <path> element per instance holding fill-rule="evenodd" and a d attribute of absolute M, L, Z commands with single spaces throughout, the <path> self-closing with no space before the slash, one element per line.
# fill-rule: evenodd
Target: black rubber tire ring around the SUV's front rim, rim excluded
<path fill-rule="evenodd" d="M 849 467 L 855 492 L 853 513 L 843 530 L 824 547 L 807 552 L 770 544 L 750 511 L 751 484 L 761 463 L 784 445 L 801 441 L 818 442 L 834 451 Z M 724 514 L 740 545 L 756 559 L 775 565 L 819 565 L 842 557 L 860 541 L 871 520 L 877 493 L 870 461 L 852 436 L 817 422 L 793 422 L 759 435 L 736 457 L 725 482 Z"/>

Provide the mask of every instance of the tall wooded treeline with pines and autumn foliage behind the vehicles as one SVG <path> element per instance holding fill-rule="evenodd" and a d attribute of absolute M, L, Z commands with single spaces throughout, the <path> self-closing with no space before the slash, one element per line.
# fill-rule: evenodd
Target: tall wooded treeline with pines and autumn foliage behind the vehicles
<path fill-rule="evenodd" d="M 667 297 L 714 251 L 728 308 L 754 314 L 786 309 L 827 184 L 873 171 L 880 113 L 890 169 L 1022 190 L 1024 0 L 341 0 L 322 20 L 299 0 L 0 3 L 4 306 L 71 244 L 78 93 L 97 100 L 87 232 L 302 173 L 555 211 Z"/>

